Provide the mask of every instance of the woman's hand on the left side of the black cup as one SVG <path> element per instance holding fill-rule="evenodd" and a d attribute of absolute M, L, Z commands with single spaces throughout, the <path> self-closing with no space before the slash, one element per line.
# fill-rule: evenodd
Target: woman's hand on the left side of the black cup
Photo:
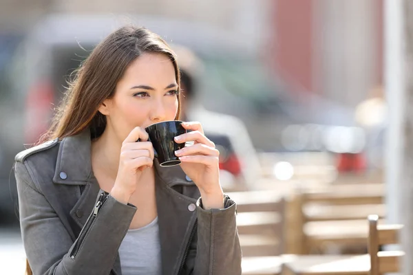
<path fill-rule="evenodd" d="M 136 190 L 142 171 L 153 166 L 153 146 L 148 138 L 146 131 L 136 127 L 122 143 L 118 175 L 110 192 L 117 201 L 126 204 Z"/>

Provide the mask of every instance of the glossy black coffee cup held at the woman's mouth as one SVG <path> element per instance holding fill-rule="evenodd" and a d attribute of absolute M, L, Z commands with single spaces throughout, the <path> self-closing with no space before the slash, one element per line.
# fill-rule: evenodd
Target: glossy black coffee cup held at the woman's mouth
<path fill-rule="evenodd" d="M 147 126 L 145 131 L 149 135 L 148 141 L 152 143 L 155 157 L 158 159 L 160 166 L 169 167 L 180 164 L 175 151 L 184 148 L 185 143 L 178 144 L 173 138 L 187 133 L 187 130 L 182 126 L 182 121 L 158 122 Z"/>

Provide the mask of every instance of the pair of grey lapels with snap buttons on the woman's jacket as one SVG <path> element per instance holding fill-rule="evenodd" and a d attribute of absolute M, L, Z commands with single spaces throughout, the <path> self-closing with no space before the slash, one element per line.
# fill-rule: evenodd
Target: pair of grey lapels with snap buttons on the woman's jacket
<path fill-rule="evenodd" d="M 161 182 L 172 187 L 176 184 L 193 185 L 179 166 L 161 167 L 158 159 L 153 166 Z M 59 146 L 53 181 L 56 184 L 85 185 L 93 179 L 91 161 L 91 139 L 89 129 L 78 135 L 65 137 Z"/>

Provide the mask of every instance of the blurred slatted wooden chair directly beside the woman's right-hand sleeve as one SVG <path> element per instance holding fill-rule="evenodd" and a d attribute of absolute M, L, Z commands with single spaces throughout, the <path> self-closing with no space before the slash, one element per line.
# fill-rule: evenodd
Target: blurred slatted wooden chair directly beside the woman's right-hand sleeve
<path fill-rule="evenodd" d="M 242 274 L 278 275 L 284 251 L 285 199 L 277 190 L 226 193 L 237 202 Z"/>

